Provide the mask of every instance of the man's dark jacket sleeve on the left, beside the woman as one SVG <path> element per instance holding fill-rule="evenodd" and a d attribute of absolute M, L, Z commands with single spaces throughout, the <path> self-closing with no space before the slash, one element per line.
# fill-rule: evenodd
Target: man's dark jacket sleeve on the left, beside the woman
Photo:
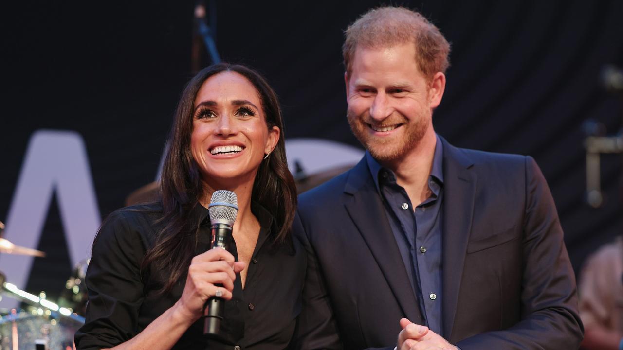
<path fill-rule="evenodd" d="M 318 257 L 310 245 L 299 213 L 292 224 L 292 234 L 300 240 L 307 254 L 302 310 L 297 319 L 293 349 L 342 349 L 340 336 Z"/>

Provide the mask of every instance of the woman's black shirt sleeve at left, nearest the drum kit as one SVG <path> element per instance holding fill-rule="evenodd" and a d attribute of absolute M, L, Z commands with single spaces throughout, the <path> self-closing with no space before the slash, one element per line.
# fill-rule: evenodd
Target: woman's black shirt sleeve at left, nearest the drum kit
<path fill-rule="evenodd" d="M 86 275 L 86 321 L 75 334 L 77 349 L 110 348 L 138 333 L 145 248 L 131 214 L 110 214 L 95 238 Z"/>

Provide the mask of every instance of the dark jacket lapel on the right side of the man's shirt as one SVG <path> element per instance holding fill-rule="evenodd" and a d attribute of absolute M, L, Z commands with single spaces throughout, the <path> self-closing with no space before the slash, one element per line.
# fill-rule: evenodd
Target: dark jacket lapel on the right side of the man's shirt
<path fill-rule="evenodd" d="M 477 176 L 470 159 L 444 143 L 444 216 L 442 227 L 442 316 L 444 336 L 452 339 L 465 252 L 472 226 Z"/>

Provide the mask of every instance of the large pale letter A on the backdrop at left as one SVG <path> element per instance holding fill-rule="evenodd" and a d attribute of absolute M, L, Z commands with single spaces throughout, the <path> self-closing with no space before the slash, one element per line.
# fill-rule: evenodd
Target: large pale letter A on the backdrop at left
<path fill-rule="evenodd" d="M 22 247 L 37 248 L 54 192 L 70 262 L 75 265 L 90 256 L 101 217 L 85 144 L 74 131 L 38 130 L 31 136 L 4 238 Z M 0 254 L 0 270 L 7 282 L 18 288 L 26 286 L 31 265 L 31 257 Z M 8 298 L 0 303 L 5 308 L 15 305 L 17 302 Z"/>

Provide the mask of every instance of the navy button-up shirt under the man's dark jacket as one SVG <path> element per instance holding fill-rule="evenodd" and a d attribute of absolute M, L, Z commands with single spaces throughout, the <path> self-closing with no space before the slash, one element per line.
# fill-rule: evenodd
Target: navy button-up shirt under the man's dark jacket
<path fill-rule="evenodd" d="M 392 233 L 402 255 L 411 287 L 427 326 L 442 334 L 442 200 L 444 173 L 443 145 L 439 136 L 429 176 L 430 197 L 415 210 L 407 192 L 397 184 L 396 175 L 383 168 L 369 152 L 368 166 L 383 198 Z"/>

